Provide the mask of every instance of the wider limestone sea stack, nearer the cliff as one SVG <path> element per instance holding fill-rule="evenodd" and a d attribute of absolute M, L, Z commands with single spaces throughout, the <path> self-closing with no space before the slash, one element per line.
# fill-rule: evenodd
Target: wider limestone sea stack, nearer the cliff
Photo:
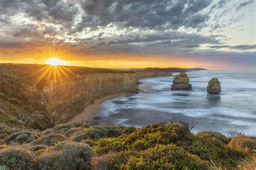
<path fill-rule="evenodd" d="M 174 76 L 172 82 L 173 84 L 171 90 L 192 90 L 192 86 L 189 83 L 190 79 L 188 79 L 185 72 L 181 72 L 180 74 Z"/>

